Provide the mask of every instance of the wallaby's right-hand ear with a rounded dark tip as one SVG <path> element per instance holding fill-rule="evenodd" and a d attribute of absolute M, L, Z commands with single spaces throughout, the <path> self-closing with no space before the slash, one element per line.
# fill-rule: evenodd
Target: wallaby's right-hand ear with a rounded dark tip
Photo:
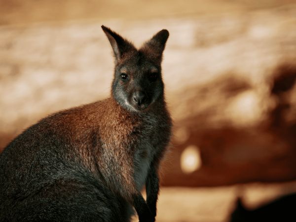
<path fill-rule="evenodd" d="M 147 51 L 149 56 L 161 61 L 162 52 L 165 48 L 168 37 L 169 32 L 166 29 L 163 29 L 156 33 L 150 40 L 145 42 L 140 50 Z"/>

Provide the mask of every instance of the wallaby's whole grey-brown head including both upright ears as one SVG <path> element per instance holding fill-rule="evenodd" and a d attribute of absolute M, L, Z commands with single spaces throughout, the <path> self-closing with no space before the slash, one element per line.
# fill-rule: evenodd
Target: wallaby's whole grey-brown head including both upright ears
<path fill-rule="evenodd" d="M 169 37 L 161 30 L 137 49 L 111 29 L 102 26 L 114 53 L 112 96 L 129 111 L 145 111 L 163 99 L 162 52 Z"/>

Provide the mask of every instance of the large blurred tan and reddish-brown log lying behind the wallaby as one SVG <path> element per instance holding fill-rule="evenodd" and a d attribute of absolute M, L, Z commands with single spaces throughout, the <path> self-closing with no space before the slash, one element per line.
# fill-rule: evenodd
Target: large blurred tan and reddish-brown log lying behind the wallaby
<path fill-rule="evenodd" d="M 283 62 L 295 64 L 295 15 L 291 4 L 145 20 L 145 26 L 108 22 L 136 43 L 159 29 L 170 31 L 163 78 L 175 134 L 181 136 L 173 138 L 164 162 L 163 185 L 296 178 L 295 80 L 285 85 L 278 78 L 274 84 L 272 72 Z M 38 119 L 109 95 L 113 65 L 100 25 L 0 27 L 0 150 Z M 180 159 L 189 146 L 198 148 L 201 167 L 186 174 Z"/>

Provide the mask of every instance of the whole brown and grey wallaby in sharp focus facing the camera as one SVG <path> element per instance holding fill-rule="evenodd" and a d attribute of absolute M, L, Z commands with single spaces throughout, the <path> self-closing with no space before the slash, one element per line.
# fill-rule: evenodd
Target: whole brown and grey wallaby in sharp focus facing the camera
<path fill-rule="evenodd" d="M 115 58 L 111 98 L 60 111 L 0 154 L 0 221 L 153 222 L 172 121 L 161 30 L 137 49 L 102 26 Z M 147 199 L 141 194 L 146 185 Z"/>

